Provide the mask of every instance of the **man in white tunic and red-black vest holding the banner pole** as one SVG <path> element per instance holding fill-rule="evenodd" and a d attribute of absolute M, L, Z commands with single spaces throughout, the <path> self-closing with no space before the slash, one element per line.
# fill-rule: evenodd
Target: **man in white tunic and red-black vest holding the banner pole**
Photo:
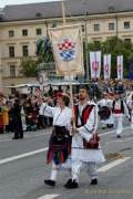
<path fill-rule="evenodd" d="M 64 185 L 65 188 L 79 187 L 79 175 L 82 165 L 88 166 L 91 185 L 98 184 L 96 163 L 105 160 L 100 148 L 98 128 L 98 106 L 89 102 L 88 87 L 80 87 L 79 104 L 74 106 L 75 128 L 72 137 L 72 178 Z"/>

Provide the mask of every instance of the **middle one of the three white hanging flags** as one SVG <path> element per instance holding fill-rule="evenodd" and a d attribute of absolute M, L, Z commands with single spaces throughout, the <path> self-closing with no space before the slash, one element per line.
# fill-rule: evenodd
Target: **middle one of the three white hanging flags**
<path fill-rule="evenodd" d="M 103 56 L 103 72 L 104 80 L 111 77 L 111 54 L 104 54 Z"/>

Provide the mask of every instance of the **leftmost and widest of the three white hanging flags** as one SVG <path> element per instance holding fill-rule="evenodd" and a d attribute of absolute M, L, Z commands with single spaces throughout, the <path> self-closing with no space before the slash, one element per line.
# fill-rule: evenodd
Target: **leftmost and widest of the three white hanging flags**
<path fill-rule="evenodd" d="M 99 78 L 101 73 L 101 51 L 90 52 L 91 78 Z"/>

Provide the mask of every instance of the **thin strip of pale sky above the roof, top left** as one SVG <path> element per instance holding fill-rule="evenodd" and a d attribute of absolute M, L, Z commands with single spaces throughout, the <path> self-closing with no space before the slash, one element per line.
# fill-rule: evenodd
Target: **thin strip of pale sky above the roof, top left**
<path fill-rule="evenodd" d="M 44 1 L 55 1 L 55 0 L 0 0 L 0 8 L 3 8 L 7 4 L 38 3 Z"/>

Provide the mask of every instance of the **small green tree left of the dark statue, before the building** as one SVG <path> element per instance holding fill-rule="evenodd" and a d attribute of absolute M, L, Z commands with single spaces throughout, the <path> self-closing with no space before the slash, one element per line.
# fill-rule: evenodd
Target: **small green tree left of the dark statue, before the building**
<path fill-rule="evenodd" d="M 37 62 L 30 57 L 24 57 L 21 61 L 21 73 L 24 76 L 37 76 Z"/>

